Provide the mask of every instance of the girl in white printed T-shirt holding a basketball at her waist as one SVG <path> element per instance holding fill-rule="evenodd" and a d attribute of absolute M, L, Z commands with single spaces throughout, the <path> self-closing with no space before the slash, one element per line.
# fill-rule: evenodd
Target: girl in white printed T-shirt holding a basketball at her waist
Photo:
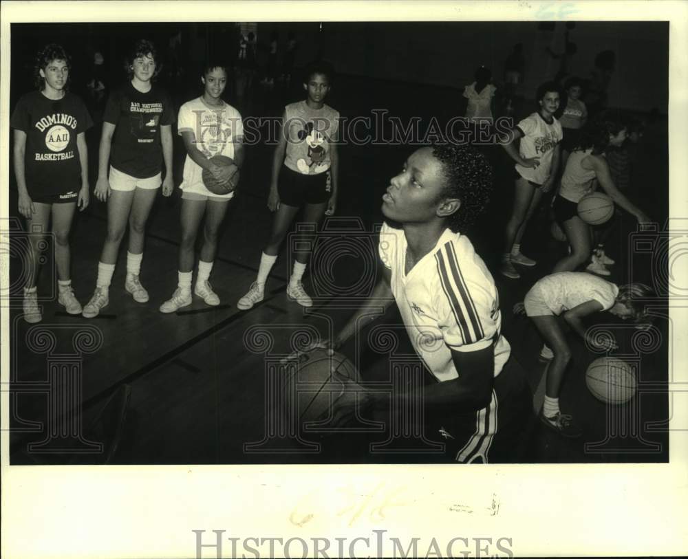
<path fill-rule="evenodd" d="M 184 103 L 179 111 L 178 130 L 186 147 L 182 189 L 182 240 L 179 245 L 178 287 L 172 298 L 160 306 L 160 312 L 171 313 L 191 305 L 191 275 L 195 260 L 193 248 L 202 219 L 203 245 L 198 260 L 198 273 L 193 293 L 206 305 L 219 305 L 208 278 L 217 253 L 217 231 L 227 212 L 234 191 L 218 195 L 203 184 L 203 170 L 208 169 L 219 183 L 238 180 L 244 163 L 244 127 L 239 111 L 222 100 L 227 85 L 227 66 L 209 62 L 203 69 L 203 95 Z M 224 155 L 236 167 L 216 165 L 211 157 Z"/>

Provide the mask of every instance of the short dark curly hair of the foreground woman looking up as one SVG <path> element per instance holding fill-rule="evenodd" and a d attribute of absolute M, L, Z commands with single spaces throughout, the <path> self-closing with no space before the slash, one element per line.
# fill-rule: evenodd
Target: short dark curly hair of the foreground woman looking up
<path fill-rule="evenodd" d="M 440 199 L 461 201 L 460 208 L 447 219 L 447 226 L 453 232 L 465 232 L 490 201 L 492 167 L 485 155 L 468 144 L 434 144 L 432 150 L 447 179 Z"/>

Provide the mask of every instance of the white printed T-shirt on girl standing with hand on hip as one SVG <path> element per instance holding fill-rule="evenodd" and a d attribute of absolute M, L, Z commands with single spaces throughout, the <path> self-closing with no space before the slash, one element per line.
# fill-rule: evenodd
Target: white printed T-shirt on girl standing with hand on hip
<path fill-rule="evenodd" d="M 523 133 L 519 149 L 521 157 L 524 159 L 539 157 L 540 164 L 536 168 L 516 164 L 516 171 L 526 180 L 543 184 L 550 176 L 555 147 L 563 138 L 561 124 L 554 117 L 552 117 L 552 124 L 547 124 L 539 113 L 533 113 L 519 122 L 518 127 Z"/>

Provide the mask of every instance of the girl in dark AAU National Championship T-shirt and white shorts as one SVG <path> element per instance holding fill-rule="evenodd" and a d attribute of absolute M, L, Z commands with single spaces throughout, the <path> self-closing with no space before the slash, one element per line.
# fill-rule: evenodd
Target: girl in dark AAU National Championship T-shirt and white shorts
<path fill-rule="evenodd" d="M 157 56 L 153 43 L 136 41 L 126 64 L 131 79 L 114 91 L 105 105 L 96 197 L 107 201 L 107 237 L 98 261 L 96 290 L 83 309 L 85 318 L 98 316 L 109 302 L 109 286 L 127 222 L 125 290 L 137 303 L 146 303 L 149 298 L 139 281 L 146 221 L 160 185 L 164 196 L 171 195 L 174 186 L 171 125 L 175 115 L 166 91 L 152 83 L 160 71 Z"/>

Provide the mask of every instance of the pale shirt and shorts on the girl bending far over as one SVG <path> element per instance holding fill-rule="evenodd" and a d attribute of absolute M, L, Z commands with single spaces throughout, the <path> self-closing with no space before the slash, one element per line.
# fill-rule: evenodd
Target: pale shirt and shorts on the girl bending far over
<path fill-rule="evenodd" d="M 561 313 L 596 300 L 606 311 L 614 306 L 619 287 L 586 272 L 557 272 L 541 278 L 530 289 L 552 313 Z"/>

